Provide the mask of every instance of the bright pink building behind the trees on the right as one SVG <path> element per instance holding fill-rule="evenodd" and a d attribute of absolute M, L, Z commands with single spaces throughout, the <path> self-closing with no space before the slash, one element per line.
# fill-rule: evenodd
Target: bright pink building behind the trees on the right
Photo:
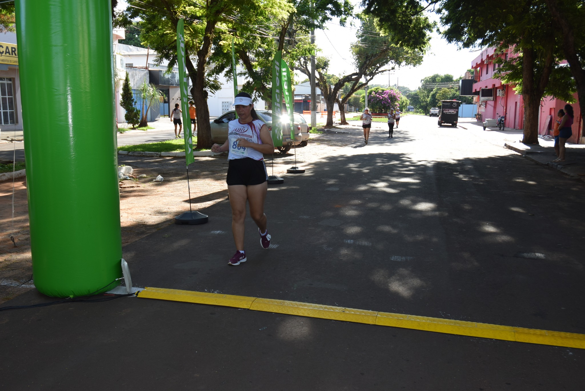
<path fill-rule="evenodd" d="M 488 47 L 483 50 L 479 56 L 472 61 L 472 68 L 476 70 L 473 84 L 473 92 L 479 93 L 474 98 L 477 102 L 477 112 L 483 119 L 498 118 L 499 115 L 505 115 L 505 126 L 507 128 L 522 129 L 524 128 L 524 100 L 522 95 L 514 91 L 514 85 L 502 84 L 501 80 L 494 77 L 494 71 L 500 67 L 493 61 L 497 57 L 504 60 L 508 56 L 515 56 L 512 49 L 496 53 L 495 48 Z M 575 99 L 577 94 L 575 94 Z M 565 106 L 566 102 L 553 98 L 545 97 L 541 101 L 541 113 L 539 115 L 539 134 L 552 134 L 553 121 L 556 118 L 556 112 Z M 584 144 L 585 135 L 580 134 L 581 129 L 581 112 L 579 104 L 572 104 L 575 118 L 573 124 L 573 136 L 569 142 Z"/>

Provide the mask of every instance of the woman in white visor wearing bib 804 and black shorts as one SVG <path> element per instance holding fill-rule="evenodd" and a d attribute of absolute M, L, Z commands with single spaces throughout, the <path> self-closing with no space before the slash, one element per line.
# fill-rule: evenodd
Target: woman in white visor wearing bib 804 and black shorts
<path fill-rule="evenodd" d="M 250 216 L 258 226 L 260 245 L 270 246 L 270 235 L 266 229 L 264 200 L 268 189 L 268 174 L 264 165 L 264 153 L 273 153 L 272 136 L 260 121 L 252 105 L 252 97 L 246 92 L 236 95 L 233 105 L 238 117 L 228 124 L 228 139 L 223 145 L 214 144 L 213 152 L 228 153 L 228 194 L 232 205 L 232 233 L 236 253 L 228 265 L 246 262 L 244 250 L 244 219 L 246 201 L 250 205 Z"/>

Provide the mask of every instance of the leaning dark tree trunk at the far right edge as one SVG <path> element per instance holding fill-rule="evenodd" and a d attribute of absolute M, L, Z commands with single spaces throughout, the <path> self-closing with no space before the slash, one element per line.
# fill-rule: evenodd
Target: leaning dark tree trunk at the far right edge
<path fill-rule="evenodd" d="M 569 63 L 571 73 L 577 85 L 577 98 L 579 99 L 579 108 L 581 110 L 581 129 L 579 136 L 583 137 L 585 136 L 585 121 L 582 119 L 583 113 L 585 112 L 585 69 L 581 67 L 577 54 L 574 28 L 569 25 L 569 19 L 566 18 L 565 13 L 559 9 L 559 2 L 557 0 L 545 0 L 545 2 L 548 5 L 550 15 L 552 15 L 563 32 L 565 60 Z"/>

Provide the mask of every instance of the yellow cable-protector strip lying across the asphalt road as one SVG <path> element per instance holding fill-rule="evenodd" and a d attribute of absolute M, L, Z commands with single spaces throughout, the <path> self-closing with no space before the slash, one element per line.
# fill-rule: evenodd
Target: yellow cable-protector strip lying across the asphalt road
<path fill-rule="evenodd" d="M 301 303 L 300 301 L 260 299 L 259 297 L 234 296 L 231 294 L 178 289 L 146 287 L 137 293 L 137 296 L 146 299 L 185 301 L 187 303 L 211 304 L 213 306 L 247 308 L 254 311 L 585 349 L 585 334 L 576 334 L 573 332 L 538 330 L 535 328 L 511 327 L 462 320 L 357 310 L 356 308 L 324 306 L 322 304 Z"/>

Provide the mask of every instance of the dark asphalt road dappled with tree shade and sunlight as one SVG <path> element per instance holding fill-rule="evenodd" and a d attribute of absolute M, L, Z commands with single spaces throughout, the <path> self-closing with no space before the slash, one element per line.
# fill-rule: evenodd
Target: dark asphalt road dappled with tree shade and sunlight
<path fill-rule="evenodd" d="M 136 286 L 585 334 L 583 182 L 406 116 L 270 187 L 273 244 L 228 202 L 123 249 Z M 192 184 L 193 186 L 193 184 Z M 197 186 L 195 184 L 195 186 Z M 164 202 L 164 200 L 161 200 Z M 47 299 L 30 292 L 6 303 Z M 0 387 L 581 390 L 582 349 L 122 298 L 0 312 Z"/>

